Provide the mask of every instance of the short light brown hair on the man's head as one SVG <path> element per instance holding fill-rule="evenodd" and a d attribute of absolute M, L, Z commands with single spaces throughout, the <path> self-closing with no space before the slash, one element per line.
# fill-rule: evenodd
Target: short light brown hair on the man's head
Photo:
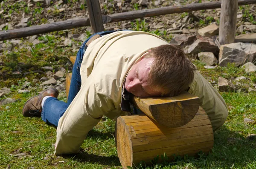
<path fill-rule="evenodd" d="M 148 82 L 160 89 L 162 96 L 175 96 L 188 90 L 196 68 L 183 49 L 176 45 L 161 45 L 152 48 L 145 56 L 150 57 L 155 60 L 148 74 Z"/>

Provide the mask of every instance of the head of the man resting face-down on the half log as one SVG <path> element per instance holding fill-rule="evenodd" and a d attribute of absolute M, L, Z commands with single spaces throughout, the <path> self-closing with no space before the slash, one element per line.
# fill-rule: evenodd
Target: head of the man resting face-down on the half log
<path fill-rule="evenodd" d="M 152 48 L 130 70 L 125 89 L 138 97 L 175 96 L 188 89 L 195 66 L 175 45 Z"/>

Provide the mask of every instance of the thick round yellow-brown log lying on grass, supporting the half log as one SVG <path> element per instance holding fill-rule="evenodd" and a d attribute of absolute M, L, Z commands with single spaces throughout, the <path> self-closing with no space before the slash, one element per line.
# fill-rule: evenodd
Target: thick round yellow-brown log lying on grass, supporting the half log
<path fill-rule="evenodd" d="M 209 117 L 200 107 L 195 117 L 186 125 L 169 128 L 162 126 L 146 115 L 121 116 L 116 123 L 116 144 L 119 160 L 124 169 L 146 164 L 157 155 L 184 156 L 207 154 L 213 147 L 213 131 Z"/>

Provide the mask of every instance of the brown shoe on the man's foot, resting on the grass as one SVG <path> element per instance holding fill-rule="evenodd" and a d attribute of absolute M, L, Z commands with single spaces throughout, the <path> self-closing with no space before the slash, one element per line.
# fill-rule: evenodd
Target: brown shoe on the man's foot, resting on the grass
<path fill-rule="evenodd" d="M 41 92 L 39 95 L 29 98 L 26 101 L 22 114 L 25 117 L 41 117 L 42 112 L 42 100 L 45 96 L 58 97 L 58 90 L 49 88 Z"/>

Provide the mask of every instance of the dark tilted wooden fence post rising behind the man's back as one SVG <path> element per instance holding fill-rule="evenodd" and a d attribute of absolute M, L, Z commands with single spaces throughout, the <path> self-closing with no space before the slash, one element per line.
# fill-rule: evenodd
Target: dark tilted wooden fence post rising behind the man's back
<path fill-rule="evenodd" d="M 99 0 L 86 0 L 93 33 L 104 31 Z"/>

